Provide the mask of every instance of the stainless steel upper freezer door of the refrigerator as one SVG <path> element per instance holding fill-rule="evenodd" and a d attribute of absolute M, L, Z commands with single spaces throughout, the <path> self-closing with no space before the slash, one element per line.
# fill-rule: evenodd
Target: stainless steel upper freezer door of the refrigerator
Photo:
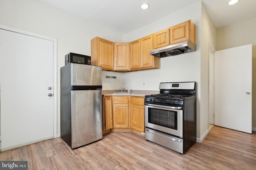
<path fill-rule="evenodd" d="M 85 64 L 71 63 L 72 86 L 101 86 L 102 68 Z"/>

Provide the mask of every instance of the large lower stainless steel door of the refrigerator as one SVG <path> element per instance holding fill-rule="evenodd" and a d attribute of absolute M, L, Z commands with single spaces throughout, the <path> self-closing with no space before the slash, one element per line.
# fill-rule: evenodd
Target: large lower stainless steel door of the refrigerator
<path fill-rule="evenodd" d="M 72 90 L 71 96 L 71 148 L 102 139 L 102 90 Z"/>

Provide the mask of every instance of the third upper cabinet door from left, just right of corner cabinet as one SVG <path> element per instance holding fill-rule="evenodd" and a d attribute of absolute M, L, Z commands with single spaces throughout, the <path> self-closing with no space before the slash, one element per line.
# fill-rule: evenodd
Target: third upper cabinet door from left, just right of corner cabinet
<path fill-rule="evenodd" d="M 130 42 L 130 70 L 140 68 L 140 40 Z"/>

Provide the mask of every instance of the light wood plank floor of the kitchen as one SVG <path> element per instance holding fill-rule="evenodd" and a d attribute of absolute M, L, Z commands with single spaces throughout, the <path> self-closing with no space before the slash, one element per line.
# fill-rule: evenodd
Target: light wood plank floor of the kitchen
<path fill-rule="evenodd" d="M 55 138 L 2 152 L 0 160 L 28 160 L 29 170 L 251 170 L 256 169 L 256 133 L 214 126 L 202 143 L 180 155 L 135 133 L 111 132 L 78 149 Z"/>

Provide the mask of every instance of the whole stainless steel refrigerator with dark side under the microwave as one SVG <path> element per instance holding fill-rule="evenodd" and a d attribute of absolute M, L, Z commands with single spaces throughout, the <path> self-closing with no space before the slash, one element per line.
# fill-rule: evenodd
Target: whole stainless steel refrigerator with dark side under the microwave
<path fill-rule="evenodd" d="M 102 139 L 102 68 L 60 68 L 60 137 L 72 148 Z"/>

